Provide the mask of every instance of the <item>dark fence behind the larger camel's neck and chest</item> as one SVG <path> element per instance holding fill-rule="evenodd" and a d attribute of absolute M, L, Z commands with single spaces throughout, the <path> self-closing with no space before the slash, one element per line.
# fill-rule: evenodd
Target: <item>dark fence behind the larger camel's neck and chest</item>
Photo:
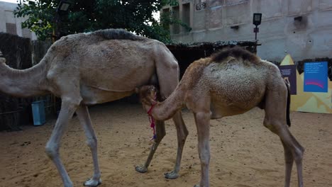
<path fill-rule="evenodd" d="M 0 50 L 13 69 L 28 69 L 37 64 L 49 46 L 50 42 L 31 42 L 29 38 L 0 33 Z M 15 98 L 0 93 L 0 130 L 20 130 L 21 125 L 33 124 L 31 103 L 37 100 L 45 100 L 45 106 L 52 104 L 50 96 Z M 50 109 L 46 112 L 50 113 Z"/>

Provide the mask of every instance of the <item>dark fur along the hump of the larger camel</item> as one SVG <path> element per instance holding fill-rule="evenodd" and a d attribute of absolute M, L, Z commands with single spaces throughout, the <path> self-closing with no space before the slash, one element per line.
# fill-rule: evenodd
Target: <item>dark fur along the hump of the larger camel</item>
<path fill-rule="evenodd" d="M 122 28 L 96 30 L 90 34 L 101 36 L 102 38 L 106 38 L 107 40 L 146 40 L 147 39 L 142 36 L 138 36 L 131 32 L 128 32 L 127 30 L 124 30 Z"/>

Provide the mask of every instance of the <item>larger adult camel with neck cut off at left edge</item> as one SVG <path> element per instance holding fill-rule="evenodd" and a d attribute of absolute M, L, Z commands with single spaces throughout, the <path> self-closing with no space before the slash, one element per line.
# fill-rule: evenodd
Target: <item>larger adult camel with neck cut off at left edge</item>
<path fill-rule="evenodd" d="M 67 35 L 57 40 L 43 60 L 30 69 L 11 69 L 0 57 L 0 91 L 11 96 L 28 97 L 52 93 L 62 99 L 59 117 L 45 149 L 65 187 L 72 181 L 60 160 L 60 140 L 76 111 L 87 136 L 94 162 L 92 179 L 85 186 L 98 186 L 101 173 L 97 159 L 96 135 L 87 106 L 114 101 L 135 93 L 146 84 L 160 86 L 160 98 L 169 96 L 179 83 L 179 67 L 170 50 L 157 40 L 143 38 L 121 29 Z M 178 148 L 175 169 L 165 174 L 177 178 L 187 128 L 180 112 L 173 116 Z M 157 121 L 157 138 L 148 159 L 136 171 L 145 172 L 162 137 L 165 123 Z"/>

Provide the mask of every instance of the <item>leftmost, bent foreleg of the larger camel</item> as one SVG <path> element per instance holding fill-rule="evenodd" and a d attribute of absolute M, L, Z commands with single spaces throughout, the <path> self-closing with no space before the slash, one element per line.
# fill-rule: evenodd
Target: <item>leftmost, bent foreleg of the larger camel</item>
<path fill-rule="evenodd" d="M 55 127 L 52 131 L 52 135 L 50 136 L 50 140 L 45 147 L 45 152 L 48 154 L 48 157 L 52 160 L 52 162 L 57 167 L 57 171 L 59 172 L 62 182 L 65 187 L 72 187 L 72 181 L 70 181 L 70 177 L 67 174 L 65 166 L 63 166 L 60 155 L 59 155 L 59 148 L 60 148 L 60 140 L 67 127 L 67 123 L 72 118 L 74 111 L 76 111 L 77 107 L 79 106 L 80 99 L 74 98 L 62 98 L 62 105 L 59 117 L 57 118 L 57 122 L 55 123 Z"/>

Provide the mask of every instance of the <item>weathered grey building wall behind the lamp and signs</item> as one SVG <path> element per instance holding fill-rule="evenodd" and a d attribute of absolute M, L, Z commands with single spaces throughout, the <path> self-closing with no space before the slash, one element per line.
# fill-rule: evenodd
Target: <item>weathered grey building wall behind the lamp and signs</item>
<path fill-rule="evenodd" d="M 182 12 L 182 4 L 190 7 L 189 13 Z M 258 55 L 263 59 L 281 61 L 287 53 L 296 61 L 332 57 L 331 0 L 179 0 L 179 18 L 187 22 L 185 15 L 189 15 L 192 31 L 180 29 L 172 39 L 254 41 L 253 13 L 262 13 Z M 301 21 L 294 20 L 298 16 Z"/>

